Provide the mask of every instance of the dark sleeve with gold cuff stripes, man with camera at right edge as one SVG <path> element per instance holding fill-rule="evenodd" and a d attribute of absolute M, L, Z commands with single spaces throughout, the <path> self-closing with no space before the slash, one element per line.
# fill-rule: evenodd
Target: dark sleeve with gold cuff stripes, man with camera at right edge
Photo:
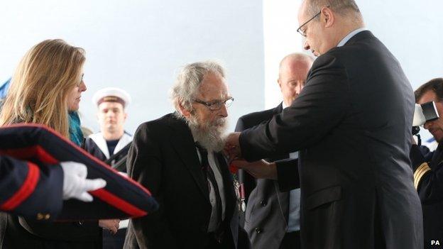
<path fill-rule="evenodd" d="M 410 151 L 412 170 L 414 171 L 414 186 L 424 204 L 432 204 L 443 200 L 443 167 L 427 162 L 417 145 L 412 145 Z M 439 158 L 441 162 L 443 158 Z"/>

